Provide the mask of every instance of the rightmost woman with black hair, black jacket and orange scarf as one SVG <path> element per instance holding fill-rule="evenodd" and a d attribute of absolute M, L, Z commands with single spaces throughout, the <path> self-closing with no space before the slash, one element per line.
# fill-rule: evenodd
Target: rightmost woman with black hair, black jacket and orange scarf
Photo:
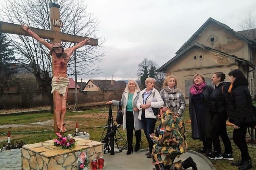
<path fill-rule="evenodd" d="M 238 70 L 229 72 L 231 84 L 228 89 L 228 119 L 234 124 L 233 140 L 241 152 L 241 161 L 232 162 L 238 169 L 246 170 L 252 168 L 252 161 L 245 142 L 248 124 L 253 119 L 252 97 L 248 89 L 248 81 L 243 73 Z"/>

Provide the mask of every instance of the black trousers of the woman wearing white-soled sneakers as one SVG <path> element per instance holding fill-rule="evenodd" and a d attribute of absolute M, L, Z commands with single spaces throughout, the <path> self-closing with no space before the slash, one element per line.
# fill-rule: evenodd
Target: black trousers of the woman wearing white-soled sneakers
<path fill-rule="evenodd" d="M 222 138 L 226 154 L 232 154 L 232 146 L 228 137 L 226 127 L 226 113 L 212 113 L 212 143 L 214 151 L 221 153 L 220 139 Z"/>

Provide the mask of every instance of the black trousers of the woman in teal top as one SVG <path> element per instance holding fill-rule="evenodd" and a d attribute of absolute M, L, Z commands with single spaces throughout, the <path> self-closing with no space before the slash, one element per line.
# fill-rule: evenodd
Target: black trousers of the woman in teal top
<path fill-rule="evenodd" d="M 133 129 L 134 129 L 134 118 L 133 112 L 126 111 L 126 136 L 127 136 L 127 143 L 128 149 L 132 148 L 133 142 Z M 141 130 L 135 130 L 135 139 L 136 143 L 141 141 Z"/>

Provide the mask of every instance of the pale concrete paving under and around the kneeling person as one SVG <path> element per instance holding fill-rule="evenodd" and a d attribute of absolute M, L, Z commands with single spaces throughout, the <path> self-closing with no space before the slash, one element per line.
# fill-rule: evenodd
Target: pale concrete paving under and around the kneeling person
<path fill-rule="evenodd" d="M 154 166 L 151 164 L 152 159 L 145 156 L 146 150 L 141 152 L 133 152 L 131 155 L 126 155 L 126 150 L 116 153 L 115 155 L 104 154 L 103 170 L 152 170 Z M 212 163 L 202 154 L 195 151 L 189 151 L 180 156 L 178 160 L 185 160 L 189 156 L 197 164 L 198 170 L 216 170 Z M 188 170 L 192 170 L 189 168 Z"/>

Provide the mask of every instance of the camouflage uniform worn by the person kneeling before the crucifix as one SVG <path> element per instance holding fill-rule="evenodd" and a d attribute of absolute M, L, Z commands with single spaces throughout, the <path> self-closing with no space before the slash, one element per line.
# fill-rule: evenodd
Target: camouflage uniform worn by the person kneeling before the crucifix
<path fill-rule="evenodd" d="M 153 165 L 164 163 L 177 170 L 182 169 L 181 161 L 173 163 L 175 157 L 187 152 L 186 130 L 184 121 L 167 110 L 161 117 L 159 137 L 154 136 L 152 150 Z M 164 161 L 161 155 L 165 155 Z"/>

